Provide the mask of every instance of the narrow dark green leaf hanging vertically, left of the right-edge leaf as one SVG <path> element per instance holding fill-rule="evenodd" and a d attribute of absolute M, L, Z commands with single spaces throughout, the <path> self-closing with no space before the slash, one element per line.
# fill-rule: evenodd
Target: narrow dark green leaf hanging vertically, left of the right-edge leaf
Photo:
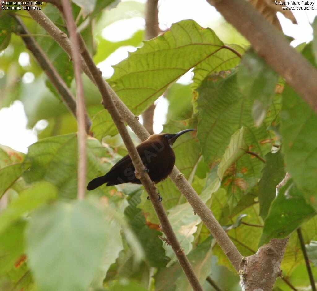
<path fill-rule="evenodd" d="M 266 164 L 262 171 L 262 178 L 259 182 L 259 203 L 260 216 L 265 219 L 268 215 L 271 202 L 276 195 L 276 186 L 285 176 L 284 159 L 279 150 L 277 153 L 271 152 L 265 155 Z"/>

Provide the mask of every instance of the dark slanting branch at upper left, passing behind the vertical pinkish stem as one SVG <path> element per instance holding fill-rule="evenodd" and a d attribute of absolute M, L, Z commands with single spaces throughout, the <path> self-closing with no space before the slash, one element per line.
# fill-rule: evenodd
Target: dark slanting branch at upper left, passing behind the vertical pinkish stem
<path fill-rule="evenodd" d="M 49 80 L 52 82 L 52 85 L 55 87 L 56 91 L 60 94 L 61 100 L 64 102 L 68 110 L 76 117 L 76 100 L 70 92 L 68 86 L 61 78 L 53 64 L 49 61 L 42 48 L 37 44 L 36 40 L 33 37 L 27 36 L 30 35 L 24 23 L 21 19 L 15 15 L 12 17 L 19 24 L 18 35 L 21 36 L 21 39 L 25 43 L 26 47 L 33 54 L 38 64 L 41 66 L 42 70 L 46 73 Z M 91 121 L 89 117 L 85 116 L 85 129 L 88 132 L 91 126 Z"/>

